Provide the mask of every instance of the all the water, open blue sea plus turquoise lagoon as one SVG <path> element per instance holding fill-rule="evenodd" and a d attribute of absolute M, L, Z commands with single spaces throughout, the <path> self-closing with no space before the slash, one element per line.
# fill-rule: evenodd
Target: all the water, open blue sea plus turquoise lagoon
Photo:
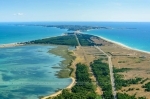
<path fill-rule="evenodd" d="M 41 25 L 101 26 L 83 33 L 109 39 L 133 49 L 150 52 L 149 22 L 20 22 L 0 23 L 0 44 L 25 42 L 62 35 L 67 29 Z M 71 83 L 55 76 L 64 60 L 47 53 L 56 46 L 30 45 L 0 48 L 0 99 L 38 99 Z"/>

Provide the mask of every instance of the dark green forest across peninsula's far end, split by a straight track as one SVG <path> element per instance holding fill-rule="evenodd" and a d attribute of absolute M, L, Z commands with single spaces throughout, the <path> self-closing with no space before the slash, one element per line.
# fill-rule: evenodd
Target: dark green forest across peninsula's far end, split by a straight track
<path fill-rule="evenodd" d="M 95 45 L 95 43 L 91 40 L 91 37 L 96 37 L 96 36 L 88 35 L 88 34 L 77 34 L 77 37 L 82 46 Z M 56 45 L 78 46 L 74 33 L 66 33 L 64 36 L 33 40 L 30 42 L 25 42 L 25 44 L 56 44 Z"/>

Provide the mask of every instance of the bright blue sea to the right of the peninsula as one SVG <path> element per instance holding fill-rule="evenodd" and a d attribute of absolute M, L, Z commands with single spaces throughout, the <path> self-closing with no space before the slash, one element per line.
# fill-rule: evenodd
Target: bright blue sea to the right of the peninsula
<path fill-rule="evenodd" d="M 150 52 L 150 23 L 103 23 L 102 25 L 110 29 L 90 30 L 85 33 Z"/>

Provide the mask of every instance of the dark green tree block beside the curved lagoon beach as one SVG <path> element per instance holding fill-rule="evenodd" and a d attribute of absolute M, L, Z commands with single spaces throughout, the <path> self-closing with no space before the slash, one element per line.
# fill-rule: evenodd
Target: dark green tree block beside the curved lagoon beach
<path fill-rule="evenodd" d="M 88 68 L 86 65 L 77 64 L 76 81 L 77 84 L 72 88 L 72 92 L 82 93 L 84 95 L 95 94 L 94 86 L 90 79 L 90 75 L 88 73 Z"/>

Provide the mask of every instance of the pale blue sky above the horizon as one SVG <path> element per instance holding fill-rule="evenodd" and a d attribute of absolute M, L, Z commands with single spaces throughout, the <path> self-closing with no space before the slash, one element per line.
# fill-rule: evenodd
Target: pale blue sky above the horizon
<path fill-rule="evenodd" d="M 0 0 L 0 22 L 150 22 L 150 0 Z"/>

